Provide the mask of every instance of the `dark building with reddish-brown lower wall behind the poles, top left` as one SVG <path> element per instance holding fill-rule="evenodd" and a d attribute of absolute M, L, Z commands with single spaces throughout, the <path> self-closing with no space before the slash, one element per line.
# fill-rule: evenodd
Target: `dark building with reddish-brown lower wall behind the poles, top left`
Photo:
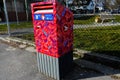
<path fill-rule="evenodd" d="M 30 4 L 41 0 L 5 0 L 9 21 L 31 20 Z M 3 0 L 0 0 L 0 20 L 5 21 Z"/>

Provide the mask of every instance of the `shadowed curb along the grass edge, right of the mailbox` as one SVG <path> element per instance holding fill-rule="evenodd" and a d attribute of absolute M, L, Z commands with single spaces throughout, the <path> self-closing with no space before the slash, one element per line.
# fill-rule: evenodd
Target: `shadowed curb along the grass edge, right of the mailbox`
<path fill-rule="evenodd" d="M 75 49 L 78 56 L 81 56 L 82 59 L 92 61 L 95 63 L 101 63 L 106 66 L 113 67 L 115 69 L 120 69 L 120 58 L 105 54 L 99 54 L 99 53 L 92 53 L 91 51 L 84 51 Z"/>

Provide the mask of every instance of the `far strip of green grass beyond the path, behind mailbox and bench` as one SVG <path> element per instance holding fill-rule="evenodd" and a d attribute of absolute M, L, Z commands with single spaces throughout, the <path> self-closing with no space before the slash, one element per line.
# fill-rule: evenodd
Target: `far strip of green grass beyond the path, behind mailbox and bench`
<path fill-rule="evenodd" d="M 74 19 L 74 24 L 93 24 L 95 21 L 95 17 L 97 15 L 92 16 L 82 16 L 78 19 Z M 120 15 L 115 15 L 115 22 L 120 22 Z M 18 25 L 16 23 L 10 24 L 10 29 L 23 29 L 23 28 L 32 28 L 32 22 L 21 22 Z M 0 25 L 0 32 L 7 31 L 7 25 Z"/>

